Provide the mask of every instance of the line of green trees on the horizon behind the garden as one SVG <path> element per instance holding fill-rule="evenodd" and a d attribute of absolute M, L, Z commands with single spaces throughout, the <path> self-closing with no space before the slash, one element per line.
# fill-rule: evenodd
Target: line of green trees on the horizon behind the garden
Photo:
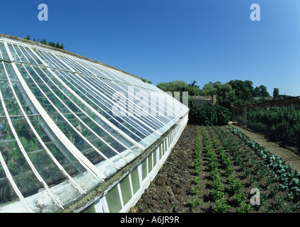
<path fill-rule="evenodd" d="M 270 96 L 267 92 L 265 85 L 253 87 L 253 82 L 250 80 L 231 80 L 226 83 L 221 82 L 209 82 L 204 84 L 204 87 L 200 88 L 196 85 L 197 82 L 194 80 L 190 84 L 182 81 L 175 80 L 173 82 L 161 82 L 156 86 L 162 89 L 164 92 L 189 92 L 191 96 L 212 96 L 217 95 L 217 104 L 231 109 L 231 105 L 242 105 L 252 104 L 257 102 L 254 97 Z M 276 89 L 278 94 L 279 89 Z"/>

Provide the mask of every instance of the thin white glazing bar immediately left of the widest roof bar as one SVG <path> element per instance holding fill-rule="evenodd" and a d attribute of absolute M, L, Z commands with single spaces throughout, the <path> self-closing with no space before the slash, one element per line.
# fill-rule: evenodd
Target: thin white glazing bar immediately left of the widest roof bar
<path fill-rule="evenodd" d="M 71 184 L 76 189 L 78 189 L 81 194 L 86 194 L 86 192 L 83 189 L 81 189 L 81 187 L 79 186 L 79 184 L 77 184 L 74 181 L 74 179 L 72 179 L 71 176 L 67 173 L 67 171 L 64 170 L 64 168 L 62 167 L 62 165 L 60 165 L 60 163 L 56 160 L 56 158 L 54 157 L 54 155 L 52 155 L 52 153 L 50 152 L 50 150 L 47 148 L 47 146 L 45 145 L 44 141 L 42 141 L 42 138 L 40 138 L 40 135 L 38 135 L 37 131 L 35 130 L 35 128 L 33 126 L 33 124 L 30 122 L 30 119 L 28 118 L 27 114 L 25 113 L 20 100 L 18 100 L 18 96 L 16 95 L 15 89 L 13 89 L 13 85 L 11 84 L 11 79 L 8 77 L 8 74 L 6 74 L 6 76 L 7 76 L 7 79 L 8 79 L 8 83 L 11 86 L 11 91 L 13 92 L 13 96 L 15 96 L 17 104 L 18 104 L 19 108 L 21 109 L 23 117 L 27 121 L 28 125 L 30 126 L 31 131 L 33 131 L 33 133 L 35 134 L 35 137 L 37 138 L 37 140 L 39 141 L 39 143 L 45 149 L 45 151 L 50 156 L 50 158 L 53 160 L 53 162 L 55 163 L 55 165 L 57 165 L 57 167 L 59 168 L 59 170 L 61 170 L 63 172 L 63 174 L 69 179 L 69 181 L 71 182 Z"/>

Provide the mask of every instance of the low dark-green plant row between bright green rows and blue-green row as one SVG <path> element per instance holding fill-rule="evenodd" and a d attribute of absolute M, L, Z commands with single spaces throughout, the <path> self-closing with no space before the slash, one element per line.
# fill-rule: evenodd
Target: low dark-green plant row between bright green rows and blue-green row
<path fill-rule="evenodd" d="M 255 151 L 253 147 L 255 142 L 253 140 L 249 138 L 241 140 L 241 138 L 236 137 L 236 131 L 228 131 L 226 133 L 221 128 L 218 128 L 218 130 L 229 141 L 229 143 L 225 142 L 226 148 L 231 151 L 237 164 L 241 166 L 243 179 L 248 182 L 247 187 L 253 187 L 260 192 L 260 200 L 256 204 L 260 206 L 255 206 L 256 211 L 261 212 L 265 209 L 265 212 L 268 213 L 276 211 L 293 212 L 299 209 L 299 204 L 295 204 L 292 207 L 286 206 L 286 202 L 291 201 L 287 188 L 279 184 L 277 176 L 274 175 L 271 169 L 272 165 L 268 164 L 270 160 L 267 160 L 267 155 L 261 155 Z M 262 148 L 261 145 L 257 146 Z"/>

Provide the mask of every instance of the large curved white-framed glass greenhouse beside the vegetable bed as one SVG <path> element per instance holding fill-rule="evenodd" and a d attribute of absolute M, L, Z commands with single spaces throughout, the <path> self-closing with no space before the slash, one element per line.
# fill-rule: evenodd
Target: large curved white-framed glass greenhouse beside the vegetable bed
<path fill-rule="evenodd" d="M 126 212 L 188 107 L 146 79 L 0 35 L 0 212 Z"/>

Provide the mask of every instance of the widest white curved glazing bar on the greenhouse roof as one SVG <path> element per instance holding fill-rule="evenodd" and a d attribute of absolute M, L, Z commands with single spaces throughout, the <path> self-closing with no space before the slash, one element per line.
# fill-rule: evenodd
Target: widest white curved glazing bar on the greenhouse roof
<path fill-rule="evenodd" d="M 7 51 L 7 45 L 6 45 L 6 51 Z M 11 53 L 8 52 L 8 56 L 10 59 L 12 59 Z M 99 181 L 103 181 L 103 178 L 105 178 L 105 175 L 103 175 L 102 172 L 100 172 L 96 166 L 94 166 L 81 152 L 75 147 L 71 141 L 67 138 L 66 135 L 58 128 L 58 126 L 52 121 L 52 118 L 47 114 L 45 109 L 40 105 L 40 103 L 35 98 L 35 95 L 30 91 L 30 88 L 26 84 L 25 80 L 23 79 L 20 72 L 18 72 L 18 68 L 16 67 L 16 64 L 14 62 L 11 63 L 11 66 L 13 67 L 13 70 L 16 72 L 16 76 L 18 77 L 19 82 L 21 83 L 21 86 L 23 87 L 25 93 L 27 94 L 30 101 L 35 105 L 35 109 L 39 112 L 40 116 L 45 120 L 47 125 L 52 128 L 53 133 L 57 136 L 57 138 L 62 142 L 62 144 L 69 150 L 69 152 L 76 157 L 77 160 L 83 165 L 83 167 L 86 167 L 86 170 L 91 172 L 91 174 L 96 177 Z"/>

